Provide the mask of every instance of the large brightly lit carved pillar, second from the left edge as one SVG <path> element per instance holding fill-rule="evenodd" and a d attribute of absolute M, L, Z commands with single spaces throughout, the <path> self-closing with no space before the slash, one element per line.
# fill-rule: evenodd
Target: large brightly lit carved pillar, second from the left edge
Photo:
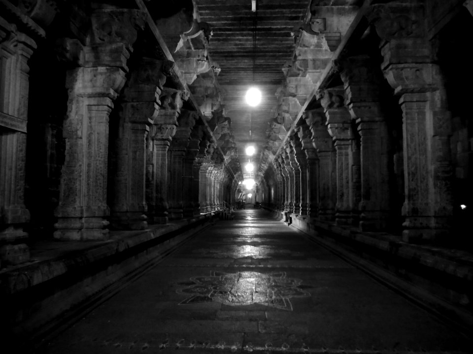
<path fill-rule="evenodd" d="M 66 158 L 54 233 L 59 239 L 108 237 L 108 117 L 125 84 L 137 29 L 144 27 L 142 13 L 130 9 L 95 10 L 91 21 L 80 67 L 68 70 L 66 79 Z"/>

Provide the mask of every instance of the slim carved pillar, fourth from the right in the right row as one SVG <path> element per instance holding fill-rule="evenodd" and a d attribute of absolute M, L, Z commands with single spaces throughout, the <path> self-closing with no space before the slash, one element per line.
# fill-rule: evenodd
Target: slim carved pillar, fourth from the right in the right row
<path fill-rule="evenodd" d="M 310 216 L 312 217 L 313 198 L 316 198 L 317 217 L 320 220 L 333 220 L 335 218 L 335 201 L 337 190 L 336 165 L 337 155 L 335 153 L 333 139 L 327 131 L 326 117 L 323 109 L 305 112 L 305 122 L 312 132 L 313 147 L 316 150 L 306 149 L 305 154 L 310 168 L 309 176 L 311 186 L 318 186 L 317 193 L 311 190 Z M 318 169 L 315 168 L 317 166 Z M 312 176 L 318 177 L 314 183 Z M 314 195 L 315 194 L 315 195 Z M 315 214 L 315 212 L 314 212 Z"/>

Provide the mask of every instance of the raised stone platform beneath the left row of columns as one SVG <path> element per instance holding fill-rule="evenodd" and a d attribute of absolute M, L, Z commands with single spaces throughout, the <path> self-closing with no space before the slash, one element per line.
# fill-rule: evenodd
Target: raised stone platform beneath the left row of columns
<path fill-rule="evenodd" d="M 111 231 L 106 241 L 32 243 L 29 263 L 0 270 L 0 338 L 47 337 L 114 295 L 216 217 L 206 213 L 144 231 Z"/>

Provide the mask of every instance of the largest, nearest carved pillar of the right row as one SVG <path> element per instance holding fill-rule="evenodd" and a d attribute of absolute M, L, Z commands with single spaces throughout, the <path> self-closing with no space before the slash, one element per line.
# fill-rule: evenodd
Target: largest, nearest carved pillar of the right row
<path fill-rule="evenodd" d="M 403 111 L 403 239 L 444 238 L 453 213 L 451 117 L 425 26 L 418 25 L 425 8 L 419 3 L 372 5 L 368 18 L 381 38 L 384 76 L 400 96 Z"/>

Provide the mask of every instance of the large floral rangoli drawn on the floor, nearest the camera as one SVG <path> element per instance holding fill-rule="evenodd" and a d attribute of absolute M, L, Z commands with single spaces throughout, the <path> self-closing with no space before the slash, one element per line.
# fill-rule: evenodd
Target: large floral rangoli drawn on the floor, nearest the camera
<path fill-rule="evenodd" d="M 188 296 L 180 305 L 212 301 L 233 306 L 258 303 L 292 311 L 292 297 L 310 296 L 304 289 L 312 287 L 301 283 L 301 279 L 286 277 L 286 272 L 211 271 L 208 276 L 177 283 L 176 292 Z"/>

